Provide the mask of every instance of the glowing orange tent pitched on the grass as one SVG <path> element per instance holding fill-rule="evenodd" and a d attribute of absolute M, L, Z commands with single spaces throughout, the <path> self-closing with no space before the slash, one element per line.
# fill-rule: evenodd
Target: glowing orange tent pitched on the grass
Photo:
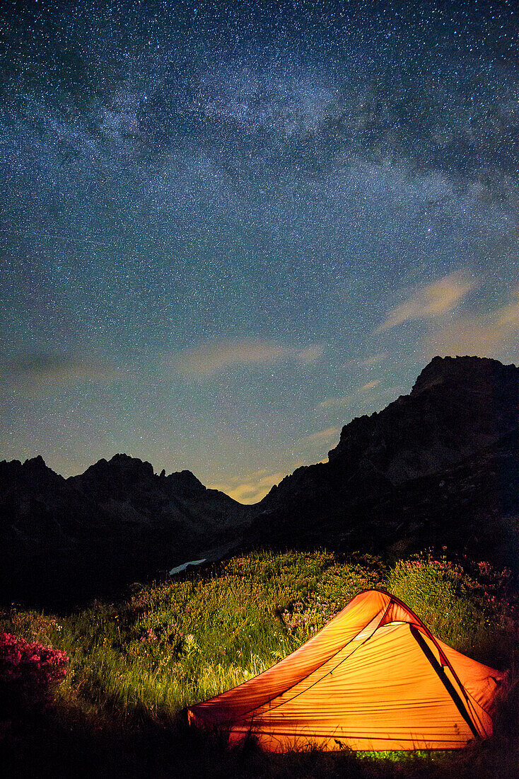
<path fill-rule="evenodd" d="M 397 597 L 366 590 L 268 671 L 188 710 L 271 752 L 458 749 L 492 733 L 506 674 L 436 639 Z"/>

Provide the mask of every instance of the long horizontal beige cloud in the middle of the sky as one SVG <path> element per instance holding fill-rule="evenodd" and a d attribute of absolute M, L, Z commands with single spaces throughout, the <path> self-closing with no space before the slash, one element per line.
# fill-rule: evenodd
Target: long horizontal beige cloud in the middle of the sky
<path fill-rule="evenodd" d="M 177 354 L 174 368 L 183 375 L 211 376 L 238 366 L 295 362 L 311 365 L 321 358 L 323 344 L 297 349 L 271 340 L 241 339 L 202 344 Z"/>

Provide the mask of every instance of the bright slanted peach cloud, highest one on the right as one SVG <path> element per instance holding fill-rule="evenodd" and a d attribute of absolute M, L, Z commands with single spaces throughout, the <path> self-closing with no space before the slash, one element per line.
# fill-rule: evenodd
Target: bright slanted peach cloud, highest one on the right
<path fill-rule="evenodd" d="M 407 300 L 387 312 L 386 319 L 375 333 L 383 333 L 409 319 L 433 319 L 436 316 L 451 312 L 475 287 L 464 271 L 449 273 L 443 279 L 426 284 L 417 290 Z"/>

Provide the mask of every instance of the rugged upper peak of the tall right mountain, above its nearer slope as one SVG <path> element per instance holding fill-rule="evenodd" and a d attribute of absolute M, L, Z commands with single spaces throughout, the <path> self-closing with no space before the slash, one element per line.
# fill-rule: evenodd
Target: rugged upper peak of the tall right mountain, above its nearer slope
<path fill-rule="evenodd" d="M 329 460 L 372 464 L 394 485 L 450 468 L 517 429 L 518 374 L 496 360 L 434 358 L 409 396 L 345 425 Z"/>

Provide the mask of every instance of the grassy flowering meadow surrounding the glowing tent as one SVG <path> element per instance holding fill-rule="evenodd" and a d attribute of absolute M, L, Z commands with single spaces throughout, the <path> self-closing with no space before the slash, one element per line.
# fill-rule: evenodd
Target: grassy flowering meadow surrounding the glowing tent
<path fill-rule="evenodd" d="M 368 587 L 400 597 L 470 657 L 517 671 L 519 599 L 507 569 L 430 552 L 391 561 L 254 552 L 77 612 L 3 612 L 0 631 L 65 650 L 70 663 L 44 714 L 0 721 L 2 759 L 14 776 L 514 776 L 514 691 L 496 735 L 455 753 L 268 755 L 186 727 L 184 707 L 286 657 Z"/>

